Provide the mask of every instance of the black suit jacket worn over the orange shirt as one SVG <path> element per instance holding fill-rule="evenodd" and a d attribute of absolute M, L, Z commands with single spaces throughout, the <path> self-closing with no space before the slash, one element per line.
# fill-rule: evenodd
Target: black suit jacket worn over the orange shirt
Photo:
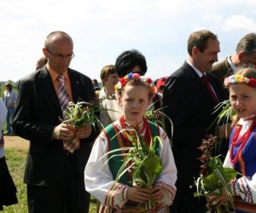
<path fill-rule="evenodd" d="M 73 102 L 95 99 L 90 78 L 72 69 L 68 69 L 68 74 Z M 67 156 L 62 141 L 51 140 L 61 116 L 61 106 L 46 66 L 20 80 L 13 126 L 16 135 L 30 141 L 25 171 L 27 184 L 55 186 L 67 179 L 84 181 L 84 167 L 96 132 L 81 140 L 80 149 Z M 66 175 L 67 168 L 71 168 L 72 176 Z"/>

